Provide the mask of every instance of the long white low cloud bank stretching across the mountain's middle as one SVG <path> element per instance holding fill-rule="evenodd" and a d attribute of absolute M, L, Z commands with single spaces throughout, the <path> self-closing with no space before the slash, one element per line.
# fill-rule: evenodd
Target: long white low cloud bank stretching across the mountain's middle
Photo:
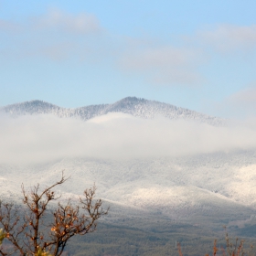
<path fill-rule="evenodd" d="M 129 159 L 247 150 L 256 147 L 256 120 L 213 127 L 165 118 L 109 113 L 82 122 L 51 115 L 0 115 L 0 164 L 64 157 Z"/>

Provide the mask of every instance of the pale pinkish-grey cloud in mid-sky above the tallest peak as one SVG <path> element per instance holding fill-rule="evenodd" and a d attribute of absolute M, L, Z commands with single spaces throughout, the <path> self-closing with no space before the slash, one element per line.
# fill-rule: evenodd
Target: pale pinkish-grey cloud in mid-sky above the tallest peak
<path fill-rule="evenodd" d="M 155 84 L 195 85 L 203 80 L 197 66 L 203 60 L 196 49 L 155 47 L 133 49 L 120 59 L 125 71 L 139 72 Z"/>

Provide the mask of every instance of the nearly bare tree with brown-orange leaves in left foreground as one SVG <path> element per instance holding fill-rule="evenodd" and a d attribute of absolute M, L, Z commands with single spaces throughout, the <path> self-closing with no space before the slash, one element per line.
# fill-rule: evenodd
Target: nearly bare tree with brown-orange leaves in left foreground
<path fill-rule="evenodd" d="M 28 192 L 22 185 L 25 207 L 17 208 L 12 203 L 0 201 L 0 254 L 12 255 L 52 255 L 59 256 L 68 240 L 75 235 L 85 235 L 97 227 L 97 219 L 108 213 L 101 208 L 101 199 L 95 199 L 96 187 L 84 191 L 77 204 L 69 200 L 65 205 L 48 211 L 48 203 L 59 197 L 52 189 L 63 184 L 61 179 L 40 192 L 39 184 Z M 46 216 L 50 214 L 48 220 Z M 2 237 L 1 237 L 2 234 Z M 2 240 L 8 240 L 2 244 Z"/>

